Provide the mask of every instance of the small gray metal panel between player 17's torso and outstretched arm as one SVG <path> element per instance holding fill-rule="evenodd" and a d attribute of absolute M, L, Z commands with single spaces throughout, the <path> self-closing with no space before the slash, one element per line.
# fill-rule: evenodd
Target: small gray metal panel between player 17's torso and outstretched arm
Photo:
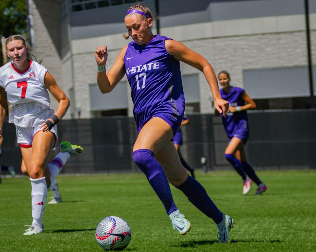
<path fill-rule="evenodd" d="M 182 85 L 186 103 L 200 101 L 198 74 L 182 76 Z"/>

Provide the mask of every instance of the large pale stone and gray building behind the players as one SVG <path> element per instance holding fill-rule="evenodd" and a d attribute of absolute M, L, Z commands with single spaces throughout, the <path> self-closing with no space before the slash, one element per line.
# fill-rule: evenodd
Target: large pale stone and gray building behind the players
<path fill-rule="evenodd" d="M 155 11 L 155 0 L 139 0 Z M 160 34 L 202 54 L 216 73 L 227 70 L 258 108 L 309 106 L 304 0 L 159 0 Z M 94 50 L 107 45 L 109 69 L 125 40 L 124 14 L 135 0 L 28 0 L 33 46 L 70 97 L 64 118 L 132 117 L 126 77 L 110 93 L 96 85 Z M 309 1 L 316 63 L 316 1 Z M 154 24 L 155 26 L 155 24 Z M 153 28 L 156 34 L 156 26 Z M 314 95 L 316 94 L 314 66 Z M 202 72 L 181 63 L 187 113 L 213 113 Z M 52 107 L 57 104 L 52 99 Z"/>

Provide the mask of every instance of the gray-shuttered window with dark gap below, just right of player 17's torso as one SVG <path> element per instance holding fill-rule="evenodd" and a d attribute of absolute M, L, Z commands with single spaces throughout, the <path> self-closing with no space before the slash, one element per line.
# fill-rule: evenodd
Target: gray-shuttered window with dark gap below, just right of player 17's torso
<path fill-rule="evenodd" d="M 200 86 L 198 74 L 182 76 L 183 92 L 185 96 L 185 113 L 200 112 Z"/>

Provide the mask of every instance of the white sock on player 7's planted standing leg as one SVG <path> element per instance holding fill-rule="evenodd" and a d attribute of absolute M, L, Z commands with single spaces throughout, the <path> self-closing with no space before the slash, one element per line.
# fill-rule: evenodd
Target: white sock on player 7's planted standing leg
<path fill-rule="evenodd" d="M 45 177 L 31 179 L 32 186 L 32 225 L 43 226 L 43 214 L 47 198 L 47 188 Z"/>

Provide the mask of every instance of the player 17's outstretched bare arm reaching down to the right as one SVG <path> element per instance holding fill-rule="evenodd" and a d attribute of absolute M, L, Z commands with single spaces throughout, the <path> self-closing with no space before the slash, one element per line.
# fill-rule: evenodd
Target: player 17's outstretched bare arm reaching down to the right
<path fill-rule="evenodd" d="M 223 113 L 223 116 L 226 116 L 226 112 L 228 111 L 228 102 L 221 98 L 216 75 L 210 63 L 202 55 L 187 48 L 179 41 L 168 39 L 165 41 L 165 46 L 167 52 L 173 55 L 175 59 L 193 66 L 204 73 L 204 76 L 210 85 L 215 108 L 218 112 Z"/>

